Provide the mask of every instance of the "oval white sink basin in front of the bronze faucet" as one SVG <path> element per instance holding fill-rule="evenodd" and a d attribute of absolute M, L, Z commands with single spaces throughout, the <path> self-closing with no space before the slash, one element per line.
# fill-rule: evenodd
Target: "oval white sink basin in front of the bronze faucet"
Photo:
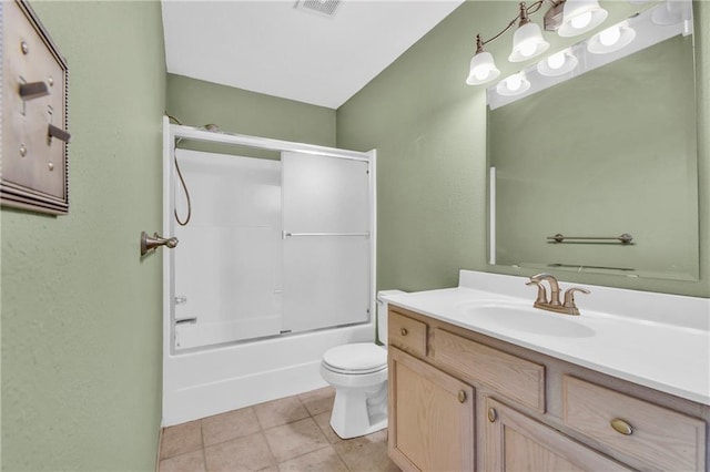
<path fill-rule="evenodd" d="M 545 311 L 531 306 L 488 302 L 468 305 L 464 309 L 471 317 L 471 321 L 475 319 L 516 331 L 568 338 L 595 335 L 594 329 L 575 321 L 569 315 Z"/>

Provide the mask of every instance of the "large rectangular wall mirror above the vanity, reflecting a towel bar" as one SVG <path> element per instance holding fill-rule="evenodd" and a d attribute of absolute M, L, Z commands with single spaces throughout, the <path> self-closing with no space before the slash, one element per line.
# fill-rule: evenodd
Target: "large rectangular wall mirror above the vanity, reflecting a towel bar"
<path fill-rule="evenodd" d="M 691 17 L 661 3 L 626 23 L 642 48 L 590 66 L 591 38 L 561 80 L 536 85 L 530 68 L 520 96 L 489 89 L 490 264 L 698 278 Z"/>

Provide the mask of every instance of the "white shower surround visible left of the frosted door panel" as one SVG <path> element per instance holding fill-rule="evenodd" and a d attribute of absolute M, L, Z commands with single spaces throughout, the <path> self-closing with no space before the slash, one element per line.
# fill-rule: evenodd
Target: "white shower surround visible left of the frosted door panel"
<path fill-rule="evenodd" d="M 191 218 L 175 225 L 175 347 L 277 336 L 282 330 L 281 163 L 178 150 Z M 176 214 L 187 215 L 186 198 Z M 171 215 L 172 216 L 172 215 Z"/>

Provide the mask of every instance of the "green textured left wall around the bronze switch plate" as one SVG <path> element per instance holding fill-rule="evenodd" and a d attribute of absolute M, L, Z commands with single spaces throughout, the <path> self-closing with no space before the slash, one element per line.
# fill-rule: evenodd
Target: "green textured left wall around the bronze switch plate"
<path fill-rule="evenodd" d="M 3 208 L 2 470 L 154 470 L 165 60 L 151 2 L 32 2 L 70 68 L 70 213 Z"/>

